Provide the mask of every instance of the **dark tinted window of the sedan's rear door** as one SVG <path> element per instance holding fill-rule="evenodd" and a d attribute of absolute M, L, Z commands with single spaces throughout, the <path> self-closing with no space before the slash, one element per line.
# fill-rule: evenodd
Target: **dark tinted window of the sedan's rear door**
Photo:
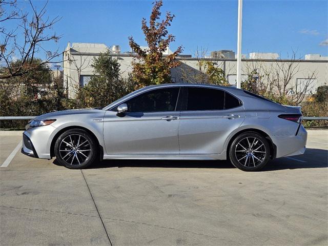
<path fill-rule="evenodd" d="M 223 107 L 223 91 L 199 87 L 188 88 L 187 110 L 220 110 Z"/>

